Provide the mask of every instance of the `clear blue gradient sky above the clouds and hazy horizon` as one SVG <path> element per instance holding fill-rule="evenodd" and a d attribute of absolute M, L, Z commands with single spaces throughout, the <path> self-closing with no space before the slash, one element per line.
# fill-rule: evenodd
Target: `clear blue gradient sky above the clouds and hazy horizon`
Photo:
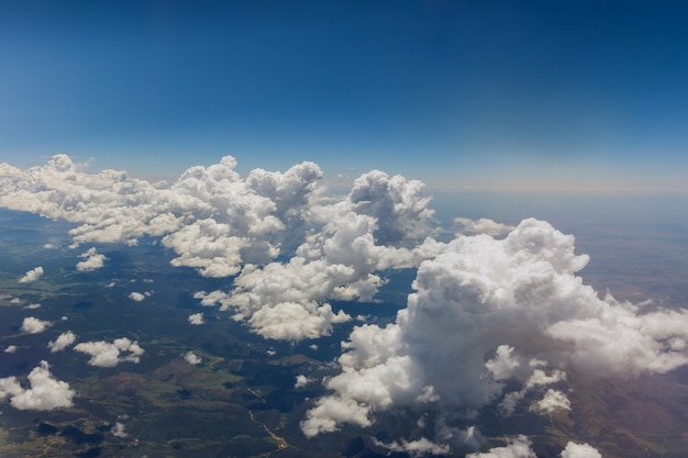
<path fill-rule="evenodd" d="M 0 161 L 686 190 L 683 1 L 3 1 Z"/>

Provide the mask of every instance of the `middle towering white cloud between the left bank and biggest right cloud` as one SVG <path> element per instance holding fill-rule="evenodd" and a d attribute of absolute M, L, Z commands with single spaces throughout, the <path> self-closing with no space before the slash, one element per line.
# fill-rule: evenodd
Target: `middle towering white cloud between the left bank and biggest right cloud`
<path fill-rule="evenodd" d="M 234 310 L 235 319 L 264 337 L 329 335 L 351 316 L 334 313 L 328 300 L 370 301 L 384 284 L 377 272 L 413 267 L 442 248 L 425 238 L 432 233 L 429 201 L 419 181 L 366 174 L 345 199 L 313 208 L 313 220 L 323 225 L 307 235 L 288 261 L 247 265 L 233 291 L 196 297 L 203 305 Z"/>

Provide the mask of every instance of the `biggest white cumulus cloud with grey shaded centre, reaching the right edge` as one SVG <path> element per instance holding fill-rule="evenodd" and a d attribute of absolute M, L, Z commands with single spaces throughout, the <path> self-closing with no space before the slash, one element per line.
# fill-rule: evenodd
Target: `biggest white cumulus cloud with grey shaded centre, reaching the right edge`
<path fill-rule="evenodd" d="M 676 345 L 688 338 L 688 313 L 644 313 L 600 299 L 576 275 L 588 257 L 574 248 L 573 236 L 532 219 L 506 238 L 448 243 L 420 265 L 415 292 L 395 323 L 354 328 L 341 372 L 325 381 L 332 394 L 308 412 L 303 433 L 369 426 L 392 406 L 429 412 L 437 424 L 450 412 L 469 422 L 488 403 L 513 407 L 526 392 L 562 382 L 566 368 L 588 378 L 628 377 L 688 362 Z M 504 393 L 504 380 L 522 388 Z M 547 413 L 570 403 L 550 388 L 533 409 Z"/>

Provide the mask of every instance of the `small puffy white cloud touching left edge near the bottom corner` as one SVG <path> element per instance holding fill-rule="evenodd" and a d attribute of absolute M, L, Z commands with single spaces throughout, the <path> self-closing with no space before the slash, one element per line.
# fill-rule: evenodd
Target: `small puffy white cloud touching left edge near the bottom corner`
<path fill-rule="evenodd" d="M 16 378 L 0 379 L 0 399 L 10 396 L 12 406 L 20 411 L 52 411 L 73 405 L 75 391 L 69 384 L 55 380 L 46 361 L 41 361 L 29 373 L 31 388 L 23 389 Z"/>

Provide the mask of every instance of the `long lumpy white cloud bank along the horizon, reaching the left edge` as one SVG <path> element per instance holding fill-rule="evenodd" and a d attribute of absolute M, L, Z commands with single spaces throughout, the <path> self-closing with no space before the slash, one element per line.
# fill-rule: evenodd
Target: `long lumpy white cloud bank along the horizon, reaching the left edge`
<path fill-rule="evenodd" d="M 0 167 L 0 205 L 80 224 L 70 231 L 76 243 L 135 244 L 146 234 L 165 236 L 164 244 L 179 255 L 176 265 L 223 277 L 237 270 L 237 256 L 253 261 L 278 253 L 279 232 L 301 220 L 322 176 L 318 166 L 303 163 L 284 174 L 258 169 L 242 179 L 235 166 L 226 156 L 159 188 L 123 171 L 89 174 L 67 155 L 56 155 L 25 171 Z"/>

